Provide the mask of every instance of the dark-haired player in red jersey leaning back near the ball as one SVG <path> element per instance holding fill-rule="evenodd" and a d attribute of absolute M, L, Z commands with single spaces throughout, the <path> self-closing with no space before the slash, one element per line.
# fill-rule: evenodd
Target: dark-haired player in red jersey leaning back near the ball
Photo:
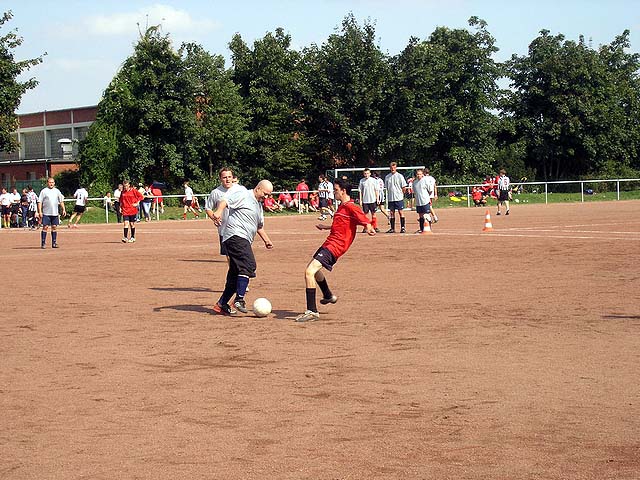
<path fill-rule="evenodd" d="M 322 273 L 322 268 L 331 271 L 333 266 L 342 255 L 344 255 L 356 238 L 359 225 L 364 225 L 369 235 L 375 235 L 376 231 L 371 225 L 371 221 L 364 214 L 362 209 L 353 203 L 349 192 L 351 187 L 346 180 L 336 179 L 333 183 L 336 200 L 340 201 L 340 206 L 333 216 L 331 226 L 318 224 L 318 230 L 331 230 L 329 236 L 322 246 L 313 255 L 304 272 L 307 296 L 307 310 L 296 317 L 296 322 L 313 322 L 320 318 L 316 305 L 316 285 L 322 290 L 320 303 L 336 303 L 336 297 L 327 285 L 327 280 Z"/>

